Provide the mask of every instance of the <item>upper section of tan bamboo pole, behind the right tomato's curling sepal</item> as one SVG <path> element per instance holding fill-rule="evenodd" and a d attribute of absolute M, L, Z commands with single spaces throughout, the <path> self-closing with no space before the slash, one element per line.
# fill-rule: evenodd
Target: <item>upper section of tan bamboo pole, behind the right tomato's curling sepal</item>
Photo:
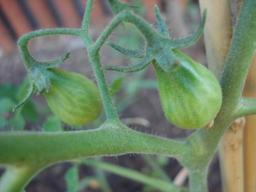
<path fill-rule="evenodd" d="M 209 69 L 219 79 L 232 37 L 229 0 L 199 0 L 201 12 L 206 9 L 204 42 Z"/>

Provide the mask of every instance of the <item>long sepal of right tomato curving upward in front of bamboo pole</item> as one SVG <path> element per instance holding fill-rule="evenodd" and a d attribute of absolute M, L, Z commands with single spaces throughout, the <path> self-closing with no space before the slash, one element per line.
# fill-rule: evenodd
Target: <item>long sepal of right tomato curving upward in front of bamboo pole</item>
<path fill-rule="evenodd" d="M 202 35 L 205 21 L 206 21 L 206 10 L 203 11 L 202 21 L 197 31 L 192 35 L 190 35 L 189 37 L 186 37 L 183 39 L 172 39 L 173 47 L 180 49 L 193 44 L 193 42 L 195 42 Z"/>

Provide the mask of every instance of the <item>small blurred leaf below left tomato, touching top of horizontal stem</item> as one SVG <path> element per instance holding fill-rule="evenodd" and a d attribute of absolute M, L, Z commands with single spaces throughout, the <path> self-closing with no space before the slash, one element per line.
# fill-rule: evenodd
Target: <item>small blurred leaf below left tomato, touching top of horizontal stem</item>
<path fill-rule="evenodd" d="M 61 125 L 61 119 L 57 116 L 50 116 L 45 121 L 42 130 L 43 131 L 61 131 L 62 125 Z"/>

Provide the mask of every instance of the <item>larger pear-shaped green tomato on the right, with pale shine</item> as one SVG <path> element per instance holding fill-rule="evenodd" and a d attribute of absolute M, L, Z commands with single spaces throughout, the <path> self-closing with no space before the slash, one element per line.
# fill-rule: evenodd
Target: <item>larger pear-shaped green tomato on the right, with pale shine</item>
<path fill-rule="evenodd" d="M 180 50 L 173 52 L 177 63 L 170 72 L 154 65 L 163 112 L 172 124 L 180 128 L 204 127 L 221 108 L 219 82 L 203 65 Z"/>

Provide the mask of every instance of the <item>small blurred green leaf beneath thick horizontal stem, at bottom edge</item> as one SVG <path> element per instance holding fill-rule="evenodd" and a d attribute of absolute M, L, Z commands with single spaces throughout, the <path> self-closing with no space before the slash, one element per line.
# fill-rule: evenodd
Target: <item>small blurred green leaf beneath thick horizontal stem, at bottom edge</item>
<path fill-rule="evenodd" d="M 78 165 L 70 167 L 66 174 L 67 192 L 77 192 L 79 187 Z"/>

